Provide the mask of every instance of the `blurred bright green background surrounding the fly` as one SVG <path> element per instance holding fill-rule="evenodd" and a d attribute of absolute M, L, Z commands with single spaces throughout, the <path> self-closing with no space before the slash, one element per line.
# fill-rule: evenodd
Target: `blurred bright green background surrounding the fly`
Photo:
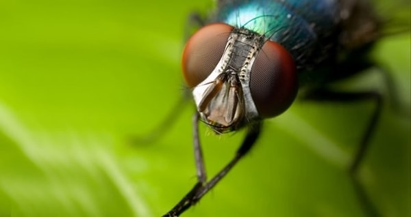
<path fill-rule="evenodd" d="M 192 106 L 159 141 L 131 141 L 181 96 L 186 17 L 212 5 L 0 1 L 0 216 L 160 216 L 173 207 L 196 182 Z M 384 105 L 360 171 L 384 216 L 411 213 L 410 53 L 410 33 L 372 53 L 400 99 Z M 373 70 L 361 80 L 386 92 Z M 372 109 L 295 102 L 184 216 L 363 216 L 346 171 Z M 209 176 L 242 136 L 201 126 Z"/>

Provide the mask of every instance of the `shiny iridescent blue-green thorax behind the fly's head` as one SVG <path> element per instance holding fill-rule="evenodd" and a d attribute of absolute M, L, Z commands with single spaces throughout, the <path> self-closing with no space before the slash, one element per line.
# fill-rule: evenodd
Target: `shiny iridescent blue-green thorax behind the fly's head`
<path fill-rule="evenodd" d="M 211 22 L 245 27 L 282 44 L 297 68 L 324 59 L 339 22 L 336 0 L 255 0 L 221 3 Z M 334 43 L 333 43 L 334 42 Z"/>

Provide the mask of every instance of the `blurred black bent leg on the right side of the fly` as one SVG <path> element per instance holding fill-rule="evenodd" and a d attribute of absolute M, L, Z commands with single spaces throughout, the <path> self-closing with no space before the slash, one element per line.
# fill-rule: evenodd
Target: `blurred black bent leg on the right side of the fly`
<path fill-rule="evenodd" d="M 306 99 L 328 102 L 355 102 L 364 100 L 371 100 L 375 102 L 375 109 L 371 115 L 369 124 L 364 130 L 364 134 L 362 135 L 362 139 L 360 141 L 360 146 L 358 147 L 356 155 L 353 157 L 353 160 L 351 161 L 351 164 L 349 166 L 349 175 L 353 182 L 354 189 L 356 190 L 356 194 L 358 194 L 360 204 L 362 205 L 362 207 L 364 207 L 364 210 L 367 212 L 367 214 L 369 216 L 380 216 L 375 205 L 373 205 L 368 194 L 366 194 L 364 187 L 358 180 L 358 170 L 360 169 L 362 160 L 364 160 L 367 149 L 369 149 L 371 136 L 373 136 L 373 132 L 375 131 L 375 128 L 377 126 L 379 116 L 381 115 L 382 95 L 374 91 L 348 93 L 320 89 L 314 91 L 313 93 L 310 93 L 310 95 L 306 96 Z"/>

